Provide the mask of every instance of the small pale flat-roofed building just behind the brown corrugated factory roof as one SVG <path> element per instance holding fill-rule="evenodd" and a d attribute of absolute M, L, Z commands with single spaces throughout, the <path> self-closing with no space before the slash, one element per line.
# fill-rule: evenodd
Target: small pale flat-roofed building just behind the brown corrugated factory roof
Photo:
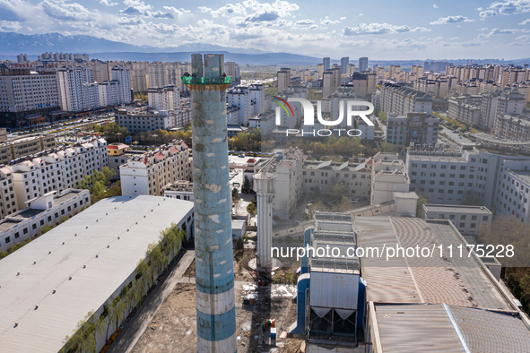
<path fill-rule="evenodd" d="M 482 227 L 490 228 L 493 214 L 484 206 L 423 203 L 421 218 L 450 220 L 464 235 L 477 235 Z"/>

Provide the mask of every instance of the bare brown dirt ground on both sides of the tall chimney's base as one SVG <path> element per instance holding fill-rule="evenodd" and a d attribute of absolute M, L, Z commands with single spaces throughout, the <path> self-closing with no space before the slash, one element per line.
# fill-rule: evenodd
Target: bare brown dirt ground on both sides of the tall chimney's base
<path fill-rule="evenodd" d="M 190 265 L 190 267 L 192 267 Z M 192 270 L 190 269 L 190 274 Z M 237 273 L 237 271 L 235 271 Z M 251 276 L 247 273 L 248 278 Z M 239 276 L 237 276 L 239 277 Z M 239 277 L 240 278 L 240 277 Z M 143 332 L 132 353 L 195 353 L 195 278 L 183 277 Z M 295 286 L 273 284 L 256 286 L 254 281 L 236 280 L 236 320 L 239 352 L 299 353 L 301 340 L 282 339 L 283 331 L 296 320 L 296 304 L 292 297 Z M 256 304 L 244 305 L 243 299 L 256 295 Z M 261 341 L 261 324 L 275 319 L 277 340 L 270 340 L 265 331 L 265 343 Z"/>

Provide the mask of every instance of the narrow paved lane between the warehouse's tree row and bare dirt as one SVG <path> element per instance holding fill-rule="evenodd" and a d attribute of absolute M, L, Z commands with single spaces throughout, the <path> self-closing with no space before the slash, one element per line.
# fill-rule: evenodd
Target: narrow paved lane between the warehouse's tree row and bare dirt
<path fill-rule="evenodd" d="M 143 302 L 143 306 L 136 312 L 131 321 L 127 323 L 126 328 L 117 336 L 117 340 L 107 350 L 108 353 L 128 353 L 135 347 L 136 342 L 142 337 L 143 331 L 151 324 L 154 314 L 158 312 L 161 305 L 169 297 L 169 294 L 182 278 L 193 259 L 195 259 L 195 251 L 187 250 L 180 261 L 173 265 L 174 267 L 169 272 L 169 275 L 166 275 L 166 278 L 153 289 L 149 297 Z"/>

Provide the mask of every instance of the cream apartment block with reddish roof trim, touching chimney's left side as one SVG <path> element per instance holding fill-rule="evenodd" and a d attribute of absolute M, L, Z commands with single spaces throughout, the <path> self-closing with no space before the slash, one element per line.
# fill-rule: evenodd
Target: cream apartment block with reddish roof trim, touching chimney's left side
<path fill-rule="evenodd" d="M 174 141 L 128 159 L 119 167 L 121 194 L 163 196 L 166 185 L 191 180 L 189 157 L 187 144 Z"/>

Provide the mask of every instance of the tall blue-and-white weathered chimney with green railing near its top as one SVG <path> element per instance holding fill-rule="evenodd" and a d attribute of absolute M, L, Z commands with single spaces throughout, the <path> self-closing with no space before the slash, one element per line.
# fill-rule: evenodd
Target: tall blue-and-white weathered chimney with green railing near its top
<path fill-rule="evenodd" d="M 224 57 L 191 56 L 197 351 L 236 352 Z"/>

